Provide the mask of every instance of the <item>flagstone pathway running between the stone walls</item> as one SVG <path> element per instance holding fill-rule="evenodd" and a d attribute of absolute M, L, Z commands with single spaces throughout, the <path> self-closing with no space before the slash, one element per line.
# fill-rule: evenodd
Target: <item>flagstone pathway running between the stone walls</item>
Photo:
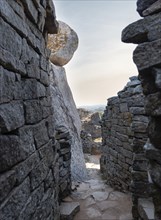
<path fill-rule="evenodd" d="M 74 220 L 132 220 L 131 196 L 109 187 L 101 178 L 99 156 L 86 157 L 89 180 L 78 184 L 65 201 L 79 202 Z"/>

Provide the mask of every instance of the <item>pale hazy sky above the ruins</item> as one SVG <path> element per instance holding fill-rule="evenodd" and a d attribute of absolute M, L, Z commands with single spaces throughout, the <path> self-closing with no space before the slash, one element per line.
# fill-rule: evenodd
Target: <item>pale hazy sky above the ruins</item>
<path fill-rule="evenodd" d="M 65 65 L 77 106 L 107 104 L 137 75 L 136 45 L 121 42 L 121 32 L 140 19 L 136 0 L 54 0 L 57 20 L 78 35 L 79 46 Z"/>

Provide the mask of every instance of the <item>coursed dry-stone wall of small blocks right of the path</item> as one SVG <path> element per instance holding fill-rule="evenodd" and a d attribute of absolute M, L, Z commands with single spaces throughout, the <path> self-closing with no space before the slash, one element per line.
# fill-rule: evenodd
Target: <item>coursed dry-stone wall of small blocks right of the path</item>
<path fill-rule="evenodd" d="M 118 96 L 108 99 L 102 117 L 100 163 L 112 187 L 144 197 L 148 190 L 147 161 L 143 152 L 148 117 L 140 81 L 137 77 L 130 80 Z"/>

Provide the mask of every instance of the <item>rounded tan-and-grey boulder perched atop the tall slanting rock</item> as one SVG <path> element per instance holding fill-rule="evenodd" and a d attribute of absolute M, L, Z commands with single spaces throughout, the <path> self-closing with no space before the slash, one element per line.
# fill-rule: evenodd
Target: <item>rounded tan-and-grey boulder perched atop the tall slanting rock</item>
<path fill-rule="evenodd" d="M 67 64 L 78 47 L 78 36 L 67 24 L 59 21 L 56 35 L 48 36 L 48 48 L 51 50 L 50 60 L 53 64 Z"/>

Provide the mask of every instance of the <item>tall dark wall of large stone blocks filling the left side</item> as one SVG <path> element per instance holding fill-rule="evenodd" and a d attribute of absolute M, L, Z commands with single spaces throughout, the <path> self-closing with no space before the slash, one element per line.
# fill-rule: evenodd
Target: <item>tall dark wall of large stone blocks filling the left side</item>
<path fill-rule="evenodd" d="M 0 219 L 59 219 L 47 33 L 51 0 L 0 4 Z"/>

